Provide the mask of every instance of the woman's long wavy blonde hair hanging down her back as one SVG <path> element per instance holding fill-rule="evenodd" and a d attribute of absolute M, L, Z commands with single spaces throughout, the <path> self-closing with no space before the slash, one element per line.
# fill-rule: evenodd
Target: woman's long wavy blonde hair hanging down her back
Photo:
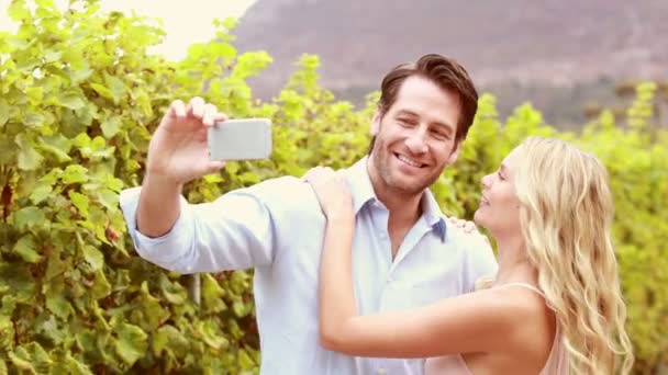
<path fill-rule="evenodd" d="M 626 374 L 633 353 L 605 167 L 558 139 L 530 137 L 517 151 L 513 175 L 527 255 L 555 310 L 570 373 Z"/>

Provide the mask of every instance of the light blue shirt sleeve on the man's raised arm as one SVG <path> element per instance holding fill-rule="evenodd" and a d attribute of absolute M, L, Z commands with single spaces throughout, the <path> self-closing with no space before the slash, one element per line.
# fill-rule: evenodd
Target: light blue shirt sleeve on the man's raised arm
<path fill-rule="evenodd" d="M 120 205 L 134 247 L 145 260 L 182 274 L 271 264 L 276 235 L 261 184 L 211 203 L 189 204 L 181 197 L 176 224 L 158 238 L 137 230 L 140 193 L 141 188 L 122 191 Z"/>

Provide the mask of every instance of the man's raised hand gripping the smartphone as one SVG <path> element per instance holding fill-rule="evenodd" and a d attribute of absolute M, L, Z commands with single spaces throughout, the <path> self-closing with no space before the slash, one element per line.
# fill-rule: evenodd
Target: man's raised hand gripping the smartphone
<path fill-rule="evenodd" d="M 209 159 L 208 128 L 227 117 L 215 105 L 193 98 L 188 105 L 174 101 L 148 145 L 147 175 L 182 185 L 224 167 Z"/>

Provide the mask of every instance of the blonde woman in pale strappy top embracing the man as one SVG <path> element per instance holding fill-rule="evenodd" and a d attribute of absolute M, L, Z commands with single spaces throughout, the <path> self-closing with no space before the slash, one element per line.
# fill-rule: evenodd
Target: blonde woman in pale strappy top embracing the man
<path fill-rule="evenodd" d="M 327 217 L 321 344 L 357 356 L 430 357 L 426 374 L 628 373 L 632 349 L 611 243 L 604 167 L 557 139 L 532 137 L 482 179 L 475 221 L 498 245 L 487 288 L 404 311 L 358 316 L 354 214 L 343 174 L 307 174 Z M 386 373 L 393 373 L 391 368 Z"/>

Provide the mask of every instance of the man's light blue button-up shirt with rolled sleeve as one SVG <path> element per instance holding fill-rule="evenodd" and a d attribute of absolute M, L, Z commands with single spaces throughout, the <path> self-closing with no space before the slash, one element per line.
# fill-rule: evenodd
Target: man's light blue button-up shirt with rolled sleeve
<path fill-rule="evenodd" d="M 447 224 L 428 190 L 422 217 L 392 261 L 389 212 L 374 193 L 366 160 L 346 171 L 356 213 L 353 276 L 360 315 L 468 293 L 478 277 L 496 273 L 490 246 L 481 236 Z M 211 203 L 190 205 L 182 200 L 174 228 L 160 238 L 136 230 L 140 189 L 121 193 L 121 208 L 142 258 L 180 273 L 255 268 L 261 374 L 423 373 L 424 360 L 352 357 L 319 345 L 318 280 L 325 218 L 308 183 L 283 177 Z"/>

